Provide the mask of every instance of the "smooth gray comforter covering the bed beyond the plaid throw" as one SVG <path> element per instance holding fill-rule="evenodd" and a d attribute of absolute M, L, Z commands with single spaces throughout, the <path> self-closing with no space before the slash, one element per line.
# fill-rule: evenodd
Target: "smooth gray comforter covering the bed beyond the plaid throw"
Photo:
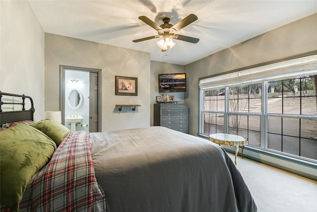
<path fill-rule="evenodd" d="M 220 146 L 163 127 L 90 134 L 110 212 L 256 212 Z"/>

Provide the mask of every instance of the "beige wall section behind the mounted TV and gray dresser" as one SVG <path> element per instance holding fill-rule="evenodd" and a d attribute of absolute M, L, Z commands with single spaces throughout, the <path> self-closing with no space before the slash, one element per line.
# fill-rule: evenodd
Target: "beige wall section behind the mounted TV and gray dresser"
<path fill-rule="evenodd" d="M 159 73 L 184 73 L 184 66 L 168 64 L 168 63 L 160 63 L 156 61 L 151 61 L 151 76 L 150 76 L 150 84 L 151 84 L 151 92 L 150 92 L 150 100 L 151 100 L 151 126 L 153 126 L 153 105 L 156 103 L 156 97 L 164 94 L 172 95 L 175 98 L 175 101 L 180 101 L 184 103 L 184 92 L 177 93 L 159 93 Z"/>

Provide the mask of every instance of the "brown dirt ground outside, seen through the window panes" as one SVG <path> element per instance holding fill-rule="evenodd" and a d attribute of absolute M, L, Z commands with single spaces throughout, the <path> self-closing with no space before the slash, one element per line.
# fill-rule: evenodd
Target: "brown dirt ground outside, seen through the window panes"
<path fill-rule="evenodd" d="M 292 115 L 307 115 L 316 116 L 316 96 L 300 97 L 289 95 L 282 97 L 281 95 L 275 95 L 274 98 L 268 98 L 267 112 L 274 114 L 292 114 Z M 224 96 L 207 96 L 205 97 L 205 109 L 224 111 Z M 246 95 L 245 99 L 233 99 L 233 95 L 229 96 L 229 111 L 261 113 L 261 97 L 248 99 Z M 241 97 L 240 97 L 241 98 Z M 243 97 L 242 97 L 243 98 Z M 211 99 L 211 101 L 209 101 Z M 215 100 L 215 101 L 213 101 Z M 238 103 L 237 103 L 238 102 Z M 301 111 L 302 110 L 302 111 Z M 208 114 L 205 116 L 204 133 L 215 133 L 215 124 L 217 126 L 223 126 L 223 116 L 219 114 Z M 209 123 L 209 124 L 208 124 Z M 268 120 L 268 132 L 281 134 L 281 118 L 270 117 Z M 213 128 L 212 128 L 213 126 Z M 210 127 L 212 129 L 210 129 Z M 219 127 L 218 127 L 219 128 Z M 229 117 L 229 130 L 230 133 L 236 134 L 234 128 L 241 129 L 239 134 L 246 134 L 242 129 L 249 129 L 254 131 L 254 144 L 260 145 L 260 117 L 247 115 L 232 115 Z M 217 131 L 223 131 L 218 129 Z M 289 136 L 301 136 L 308 139 L 317 139 L 317 120 L 302 119 L 299 124 L 299 119 L 283 118 L 283 135 Z M 250 135 L 249 135 L 250 137 Z M 250 141 L 251 138 L 249 138 Z"/>

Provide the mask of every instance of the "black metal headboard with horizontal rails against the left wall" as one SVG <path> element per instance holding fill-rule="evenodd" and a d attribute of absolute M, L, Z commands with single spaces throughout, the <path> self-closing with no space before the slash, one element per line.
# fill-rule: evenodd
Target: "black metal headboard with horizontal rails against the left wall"
<path fill-rule="evenodd" d="M 18 95 L 18 94 L 12 94 L 12 93 L 3 93 L 0 91 L 1 96 L 1 105 L 0 105 L 0 126 L 4 123 L 11 123 L 11 122 L 18 122 L 23 120 L 32 120 L 33 121 L 33 114 L 34 114 L 34 104 L 33 99 L 30 96 L 26 95 Z M 12 96 L 12 97 L 20 97 L 22 99 L 21 102 L 7 102 L 2 101 L 2 96 Z M 29 99 L 31 103 L 31 108 L 26 110 L 25 109 L 25 99 Z M 2 105 L 22 105 L 22 110 L 17 111 L 3 111 Z"/>

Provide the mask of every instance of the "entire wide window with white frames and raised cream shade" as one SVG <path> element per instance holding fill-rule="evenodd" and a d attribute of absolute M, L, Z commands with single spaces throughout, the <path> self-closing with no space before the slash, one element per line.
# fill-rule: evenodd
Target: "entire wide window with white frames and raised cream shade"
<path fill-rule="evenodd" d="M 201 79 L 200 134 L 235 134 L 249 146 L 317 162 L 317 57 L 308 58 Z"/>

